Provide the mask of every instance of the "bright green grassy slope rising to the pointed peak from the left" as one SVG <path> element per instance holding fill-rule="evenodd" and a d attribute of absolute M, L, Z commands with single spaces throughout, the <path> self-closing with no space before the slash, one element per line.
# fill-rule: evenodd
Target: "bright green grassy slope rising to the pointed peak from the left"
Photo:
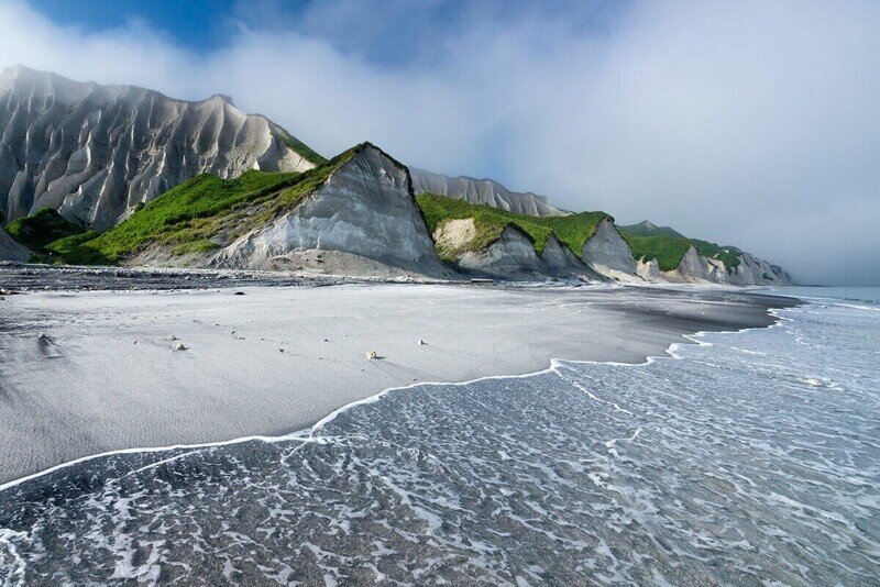
<path fill-rule="evenodd" d="M 301 174 L 250 170 L 235 179 L 204 174 L 163 193 L 103 234 L 67 236 L 45 248 L 55 258 L 76 264 L 113 264 L 154 244 L 174 255 L 206 253 L 296 206 L 360 147 Z"/>

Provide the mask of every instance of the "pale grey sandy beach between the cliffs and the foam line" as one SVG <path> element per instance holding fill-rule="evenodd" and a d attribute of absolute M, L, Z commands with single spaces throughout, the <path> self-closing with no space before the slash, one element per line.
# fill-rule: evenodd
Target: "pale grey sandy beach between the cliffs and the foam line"
<path fill-rule="evenodd" d="M 18 358 L 0 359 L 0 412 L 15 424 L 0 439 L 13 447 L 0 487 L 141 446 L 276 439 L 417 384 L 521 376 L 552 359 L 642 363 L 682 336 L 767 326 L 769 310 L 796 304 L 697 288 L 241 290 L 8 297 L 0 356 Z M 186 351 L 173 350 L 169 330 Z"/>

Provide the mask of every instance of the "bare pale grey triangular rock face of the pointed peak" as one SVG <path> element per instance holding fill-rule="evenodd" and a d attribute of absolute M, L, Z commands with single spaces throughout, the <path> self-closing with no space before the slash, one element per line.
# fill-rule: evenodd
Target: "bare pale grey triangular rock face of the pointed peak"
<path fill-rule="evenodd" d="M 326 254 L 322 254 L 326 253 Z M 449 275 L 413 197 L 409 173 L 364 145 L 292 211 L 221 251 L 215 266 L 319 266 L 350 274 L 393 267 Z"/>

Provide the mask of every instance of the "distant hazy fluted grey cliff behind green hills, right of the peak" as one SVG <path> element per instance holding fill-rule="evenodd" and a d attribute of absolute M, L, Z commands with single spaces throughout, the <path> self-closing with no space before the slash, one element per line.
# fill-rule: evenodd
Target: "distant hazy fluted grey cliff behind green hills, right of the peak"
<path fill-rule="evenodd" d="M 569 213 L 550 206 L 543 196 L 510 191 L 492 179 L 448 177 L 417 168 L 410 168 L 410 173 L 413 174 L 413 189 L 416 193 L 428 191 L 531 217 L 561 217 Z"/>

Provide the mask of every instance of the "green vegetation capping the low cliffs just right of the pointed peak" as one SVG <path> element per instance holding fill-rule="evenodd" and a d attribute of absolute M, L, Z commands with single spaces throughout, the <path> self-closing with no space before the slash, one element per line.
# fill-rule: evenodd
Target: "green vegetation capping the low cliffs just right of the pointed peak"
<path fill-rule="evenodd" d="M 556 234 L 557 239 L 580 257 L 584 243 L 595 234 L 598 223 L 606 219 L 614 220 L 605 212 L 581 212 L 551 218 L 529 217 L 428 192 L 417 196 L 416 201 L 431 233 L 450 220 L 473 219 L 476 236 L 468 243 L 468 251 L 480 251 L 490 246 L 501 237 L 505 228 L 514 225 L 526 233 L 538 254 L 543 253 L 548 239 Z M 438 253 L 441 258 L 452 261 L 451 257 L 460 252 Z"/>

